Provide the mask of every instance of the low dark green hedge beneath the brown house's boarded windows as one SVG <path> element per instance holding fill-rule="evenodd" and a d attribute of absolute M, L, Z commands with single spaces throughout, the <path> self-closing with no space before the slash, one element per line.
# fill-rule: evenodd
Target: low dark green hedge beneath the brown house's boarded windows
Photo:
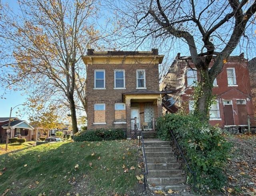
<path fill-rule="evenodd" d="M 101 141 L 101 140 L 120 140 L 125 139 L 125 132 L 122 129 L 96 129 L 84 130 L 74 134 L 73 137 L 76 142 L 83 141 Z"/>

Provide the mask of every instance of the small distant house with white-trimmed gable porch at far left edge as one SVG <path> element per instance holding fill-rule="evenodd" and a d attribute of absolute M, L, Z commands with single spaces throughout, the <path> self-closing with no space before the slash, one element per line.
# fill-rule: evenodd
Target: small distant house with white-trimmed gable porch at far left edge
<path fill-rule="evenodd" d="M 9 117 L 0 117 L 0 143 L 6 142 L 8 123 Z M 20 120 L 17 117 L 11 118 L 10 130 L 10 138 L 16 136 L 18 138 L 25 138 L 26 141 L 31 141 L 34 133 L 34 128 L 26 120 Z"/>

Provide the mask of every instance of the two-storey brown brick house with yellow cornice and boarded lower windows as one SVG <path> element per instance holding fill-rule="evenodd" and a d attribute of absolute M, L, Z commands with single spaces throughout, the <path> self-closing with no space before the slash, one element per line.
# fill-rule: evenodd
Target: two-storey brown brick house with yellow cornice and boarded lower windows
<path fill-rule="evenodd" d="M 138 130 L 155 131 L 162 115 L 157 49 L 146 52 L 88 49 L 82 56 L 87 68 L 88 129 L 122 128 L 126 136 Z"/>

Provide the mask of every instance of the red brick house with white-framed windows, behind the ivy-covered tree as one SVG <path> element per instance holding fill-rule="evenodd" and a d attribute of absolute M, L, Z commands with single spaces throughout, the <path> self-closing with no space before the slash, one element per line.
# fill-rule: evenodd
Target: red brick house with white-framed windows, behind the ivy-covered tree
<path fill-rule="evenodd" d="M 160 84 L 160 90 L 168 92 L 163 100 L 164 112 L 176 112 L 180 108 L 193 112 L 192 95 L 199 73 L 190 58 L 179 54 L 177 57 Z M 221 128 L 246 126 L 248 115 L 252 117 L 253 106 L 248 61 L 243 54 L 230 56 L 213 86 L 216 98 L 210 107 L 210 124 L 218 124 Z M 250 121 L 254 123 L 253 118 Z"/>

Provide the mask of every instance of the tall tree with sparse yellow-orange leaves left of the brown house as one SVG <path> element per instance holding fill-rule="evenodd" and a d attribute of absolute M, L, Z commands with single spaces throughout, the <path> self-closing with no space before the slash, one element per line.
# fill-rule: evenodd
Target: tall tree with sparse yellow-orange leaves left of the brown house
<path fill-rule="evenodd" d="M 97 2 L 18 0 L 18 3 L 20 13 L 8 6 L 1 9 L 0 66 L 7 67 L 0 76 L 2 85 L 33 89 L 30 92 L 36 95 L 34 100 L 42 92 L 49 93 L 44 98 L 62 100 L 69 107 L 76 133 L 78 102 L 86 110 L 86 66 L 80 56 L 98 40 L 92 20 L 96 18 Z"/>

